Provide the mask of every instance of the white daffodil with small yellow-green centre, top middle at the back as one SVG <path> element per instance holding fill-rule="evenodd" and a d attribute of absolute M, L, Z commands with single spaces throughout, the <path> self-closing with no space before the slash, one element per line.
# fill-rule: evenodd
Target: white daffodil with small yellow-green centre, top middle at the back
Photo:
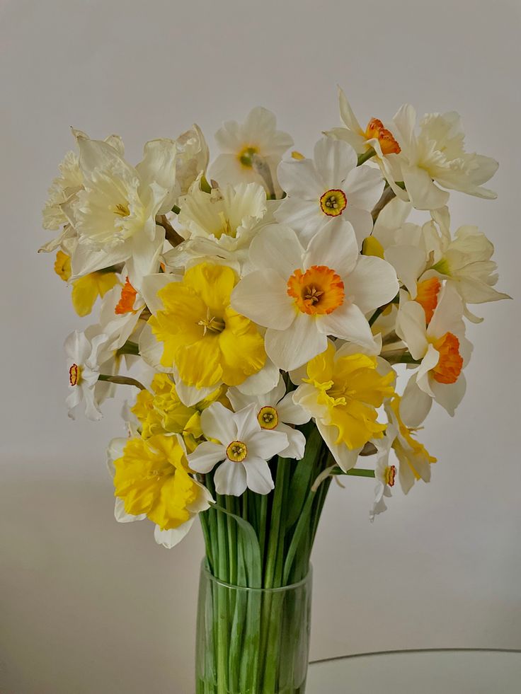
<path fill-rule="evenodd" d="M 277 164 L 293 140 L 287 132 L 277 130 L 272 112 L 257 106 L 242 125 L 235 120 L 225 122 L 215 139 L 222 154 L 210 167 L 212 179 L 220 185 L 259 183 L 268 195 L 279 192 Z"/>

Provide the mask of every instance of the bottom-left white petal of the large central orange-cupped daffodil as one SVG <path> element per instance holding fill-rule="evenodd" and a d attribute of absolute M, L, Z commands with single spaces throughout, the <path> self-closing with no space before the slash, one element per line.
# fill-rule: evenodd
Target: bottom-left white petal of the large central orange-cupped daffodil
<path fill-rule="evenodd" d="M 268 357 L 282 371 L 297 369 L 327 347 L 326 335 L 319 332 L 314 318 L 306 313 L 298 313 L 286 330 L 268 328 L 264 339 Z"/>

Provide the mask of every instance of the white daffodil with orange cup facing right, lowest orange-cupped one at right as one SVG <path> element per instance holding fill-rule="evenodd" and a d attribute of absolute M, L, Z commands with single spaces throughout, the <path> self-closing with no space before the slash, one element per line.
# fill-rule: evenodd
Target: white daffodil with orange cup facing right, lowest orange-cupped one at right
<path fill-rule="evenodd" d="M 463 302 L 454 287 L 445 285 L 427 325 L 425 310 L 417 301 L 401 304 L 396 334 L 413 359 L 421 360 L 406 387 L 401 405 L 403 420 L 416 427 L 428 415 L 433 398 L 453 416 L 465 393 L 464 366 L 472 345 L 465 337 Z M 407 405 L 406 405 L 407 403 Z"/>

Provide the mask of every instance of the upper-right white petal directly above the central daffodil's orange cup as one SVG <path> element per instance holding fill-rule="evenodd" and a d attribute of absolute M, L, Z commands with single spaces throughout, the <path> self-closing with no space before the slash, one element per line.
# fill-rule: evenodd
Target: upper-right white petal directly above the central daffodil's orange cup
<path fill-rule="evenodd" d="M 344 277 L 355 269 L 358 260 L 358 243 L 353 226 L 346 221 L 328 222 L 324 229 L 311 239 L 304 255 L 304 268 L 326 265 Z"/>

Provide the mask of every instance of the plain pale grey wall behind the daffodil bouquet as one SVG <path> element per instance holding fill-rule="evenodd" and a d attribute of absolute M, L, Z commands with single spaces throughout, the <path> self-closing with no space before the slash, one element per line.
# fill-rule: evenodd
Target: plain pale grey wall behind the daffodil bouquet
<path fill-rule="evenodd" d="M 127 156 L 197 122 L 212 142 L 254 105 L 309 154 L 338 124 L 457 110 L 469 151 L 498 158 L 498 200 L 452 195 L 453 229 L 496 244 L 519 293 L 520 7 L 516 0 L 123 2 L 3 0 L 1 52 L 2 694 L 190 694 L 195 529 L 176 549 L 117 524 L 104 449 L 120 404 L 67 419 L 64 337 L 80 325 L 36 249 L 40 209 L 72 140 L 118 132 Z M 421 439 L 430 485 L 396 491 L 371 525 L 370 480 L 328 499 L 314 551 L 311 657 L 423 647 L 521 647 L 520 314 L 477 309 L 468 392 Z M 335 693 L 336 694 L 336 693 Z"/>

